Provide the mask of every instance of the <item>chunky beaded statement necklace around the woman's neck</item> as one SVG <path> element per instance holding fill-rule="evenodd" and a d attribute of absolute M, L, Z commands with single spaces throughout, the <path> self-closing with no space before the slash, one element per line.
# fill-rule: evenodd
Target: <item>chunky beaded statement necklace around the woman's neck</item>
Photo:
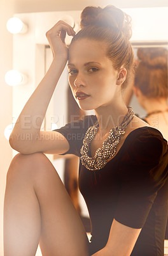
<path fill-rule="evenodd" d="M 89 157 L 88 154 L 90 152 L 90 143 L 94 139 L 95 134 L 97 134 L 97 128 L 99 127 L 99 123 L 95 122 L 95 124 L 88 128 L 85 138 L 83 140 L 83 146 L 81 147 L 81 163 L 90 171 L 100 170 L 102 169 L 106 163 L 108 163 L 108 159 L 113 157 L 116 153 L 116 145 L 120 142 L 120 138 L 123 134 L 125 134 L 125 127 L 130 123 L 134 116 L 134 111 L 132 108 L 128 108 L 129 111 L 127 115 L 124 117 L 122 124 L 112 128 L 109 131 L 108 138 L 103 141 L 102 147 L 98 148 L 95 152 L 94 157 Z"/>

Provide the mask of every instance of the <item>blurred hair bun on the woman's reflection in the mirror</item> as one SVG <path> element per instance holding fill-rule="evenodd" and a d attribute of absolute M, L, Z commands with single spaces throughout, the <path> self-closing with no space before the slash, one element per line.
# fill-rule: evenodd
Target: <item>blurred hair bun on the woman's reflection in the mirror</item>
<path fill-rule="evenodd" d="M 164 47 L 139 48 L 137 57 L 149 67 L 163 68 L 167 66 L 167 49 Z"/>

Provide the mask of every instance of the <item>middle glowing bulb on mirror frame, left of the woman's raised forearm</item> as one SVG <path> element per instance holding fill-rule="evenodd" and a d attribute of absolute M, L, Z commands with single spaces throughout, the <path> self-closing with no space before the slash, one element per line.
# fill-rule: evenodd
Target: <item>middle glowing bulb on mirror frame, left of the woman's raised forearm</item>
<path fill-rule="evenodd" d="M 8 72 L 6 72 L 4 79 L 6 81 L 6 84 L 10 86 L 25 84 L 27 81 L 27 77 L 24 74 L 18 72 L 17 70 L 9 70 Z"/>

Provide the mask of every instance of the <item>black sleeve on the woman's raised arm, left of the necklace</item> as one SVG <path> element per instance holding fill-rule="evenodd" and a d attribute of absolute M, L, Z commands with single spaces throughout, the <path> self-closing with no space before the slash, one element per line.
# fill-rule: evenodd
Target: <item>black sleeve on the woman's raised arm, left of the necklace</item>
<path fill-rule="evenodd" d="M 85 138 L 88 127 L 94 125 L 97 118 L 94 115 L 84 116 L 81 120 L 70 122 L 60 129 L 53 131 L 60 132 L 69 142 L 69 150 L 62 154 L 73 154 L 80 156 L 80 149 Z"/>

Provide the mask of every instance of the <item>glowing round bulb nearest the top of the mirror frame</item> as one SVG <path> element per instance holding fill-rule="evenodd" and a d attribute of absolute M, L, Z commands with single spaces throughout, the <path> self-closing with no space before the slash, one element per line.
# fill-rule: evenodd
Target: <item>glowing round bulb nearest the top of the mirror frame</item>
<path fill-rule="evenodd" d="M 27 31 L 27 26 L 17 17 L 10 18 L 6 24 L 6 28 L 12 34 L 25 33 Z"/>

